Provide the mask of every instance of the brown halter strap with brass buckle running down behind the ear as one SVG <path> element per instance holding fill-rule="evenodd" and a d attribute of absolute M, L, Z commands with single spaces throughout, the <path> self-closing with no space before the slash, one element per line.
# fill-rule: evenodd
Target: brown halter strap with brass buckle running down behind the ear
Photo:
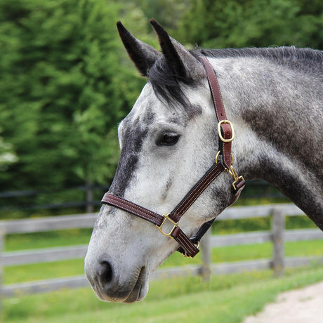
<path fill-rule="evenodd" d="M 216 117 L 218 118 L 218 122 L 220 122 L 221 135 L 225 140 L 230 140 L 233 136 L 232 125 L 230 123 L 225 123 L 225 121 L 227 121 L 227 114 L 225 114 L 225 108 L 220 92 L 220 86 L 218 85 L 218 79 L 216 78 L 216 72 L 214 72 L 213 67 L 206 57 L 202 56 L 201 58 L 206 70 L 209 86 L 211 88 L 214 108 L 216 110 Z M 224 142 L 223 140 L 219 140 L 219 150 L 223 155 L 223 164 L 229 169 L 232 164 L 231 141 Z"/>

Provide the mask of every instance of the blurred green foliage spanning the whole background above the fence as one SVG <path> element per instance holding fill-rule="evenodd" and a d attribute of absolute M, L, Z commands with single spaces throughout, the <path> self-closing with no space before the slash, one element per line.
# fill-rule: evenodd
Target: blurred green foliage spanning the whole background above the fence
<path fill-rule="evenodd" d="M 319 0 L 3 0 L 0 191 L 61 192 L 22 199 L 46 204 L 84 199 L 66 187 L 109 185 L 117 123 L 145 84 L 115 23 L 158 48 L 152 17 L 188 46 L 323 48 Z"/>

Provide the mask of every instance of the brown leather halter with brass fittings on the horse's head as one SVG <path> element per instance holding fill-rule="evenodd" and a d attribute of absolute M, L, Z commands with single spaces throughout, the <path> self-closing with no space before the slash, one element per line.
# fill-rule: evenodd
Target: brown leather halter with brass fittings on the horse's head
<path fill-rule="evenodd" d="M 235 196 L 230 205 L 237 201 L 240 196 L 240 192 L 246 184 L 244 178 L 242 176 L 237 176 L 235 169 L 232 167 L 231 143 L 235 138 L 235 133 L 232 123 L 227 120 L 227 116 L 225 114 L 216 74 L 209 63 L 209 60 L 207 60 L 205 57 L 201 58 L 206 69 L 213 103 L 216 110 L 216 117 L 218 118 L 219 151 L 218 154 L 216 154 L 216 163 L 213 164 L 208 171 L 206 171 L 204 176 L 202 176 L 195 186 L 192 187 L 190 192 L 185 195 L 178 206 L 176 206 L 176 208 L 167 215 L 159 215 L 153 211 L 150 211 L 149 209 L 145 209 L 143 206 L 129 202 L 128 200 L 112 195 L 109 192 L 105 193 L 101 201 L 103 204 L 110 204 L 135 216 L 139 216 L 150 223 L 154 223 L 154 225 L 157 225 L 157 228 L 160 232 L 162 232 L 163 235 L 171 237 L 178 242 L 180 245 L 178 251 L 183 253 L 184 256 L 188 256 L 190 258 L 193 258 L 199 252 L 199 240 L 211 227 L 211 224 L 215 218 L 204 223 L 204 225 L 202 225 L 197 233 L 191 238 L 187 237 L 187 235 L 185 235 L 185 233 L 180 229 L 178 225 L 180 218 L 188 209 L 190 209 L 190 206 L 192 206 L 202 192 L 206 190 L 206 187 L 208 187 L 223 171 L 230 173 L 233 179 L 232 189 L 235 191 Z M 219 157 L 222 158 L 220 158 L 221 160 L 218 162 Z M 169 232 L 164 232 L 163 226 L 167 221 L 171 223 L 173 228 L 171 228 Z"/>

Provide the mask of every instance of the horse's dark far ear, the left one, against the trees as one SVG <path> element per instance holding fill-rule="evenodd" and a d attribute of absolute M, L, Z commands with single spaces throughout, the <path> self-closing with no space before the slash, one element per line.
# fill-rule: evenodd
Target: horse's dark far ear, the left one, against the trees
<path fill-rule="evenodd" d="M 142 74 L 143 77 L 147 77 L 148 70 L 162 54 L 152 46 L 133 37 L 120 21 L 117 22 L 117 28 L 121 41 L 124 43 L 124 47 L 131 60 L 136 65 L 140 74 Z"/>

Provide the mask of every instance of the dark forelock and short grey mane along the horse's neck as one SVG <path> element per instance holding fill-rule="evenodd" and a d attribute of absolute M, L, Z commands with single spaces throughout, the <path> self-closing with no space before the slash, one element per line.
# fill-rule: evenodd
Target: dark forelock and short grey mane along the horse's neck
<path fill-rule="evenodd" d="M 323 77 L 323 51 L 311 48 L 268 47 L 268 48 L 226 48 L 204 49 L 197 48 L 191 51 L 197 59 L 200 55 L 210 58 L 259 58 L 270 60 L 278 65 L 284 65 L 305 74 L 315 74 Z M 183 84 L 194 86 L 194 80 L 178 79 L 171 68 L 166 64 L 164 57 L 160 57 L 148 71 L 148 80 L 154 88 L 159 100 L 171 107 L 182 107 L 187 110 L 190 106 L 188 98 L 183 93 Z"/>

